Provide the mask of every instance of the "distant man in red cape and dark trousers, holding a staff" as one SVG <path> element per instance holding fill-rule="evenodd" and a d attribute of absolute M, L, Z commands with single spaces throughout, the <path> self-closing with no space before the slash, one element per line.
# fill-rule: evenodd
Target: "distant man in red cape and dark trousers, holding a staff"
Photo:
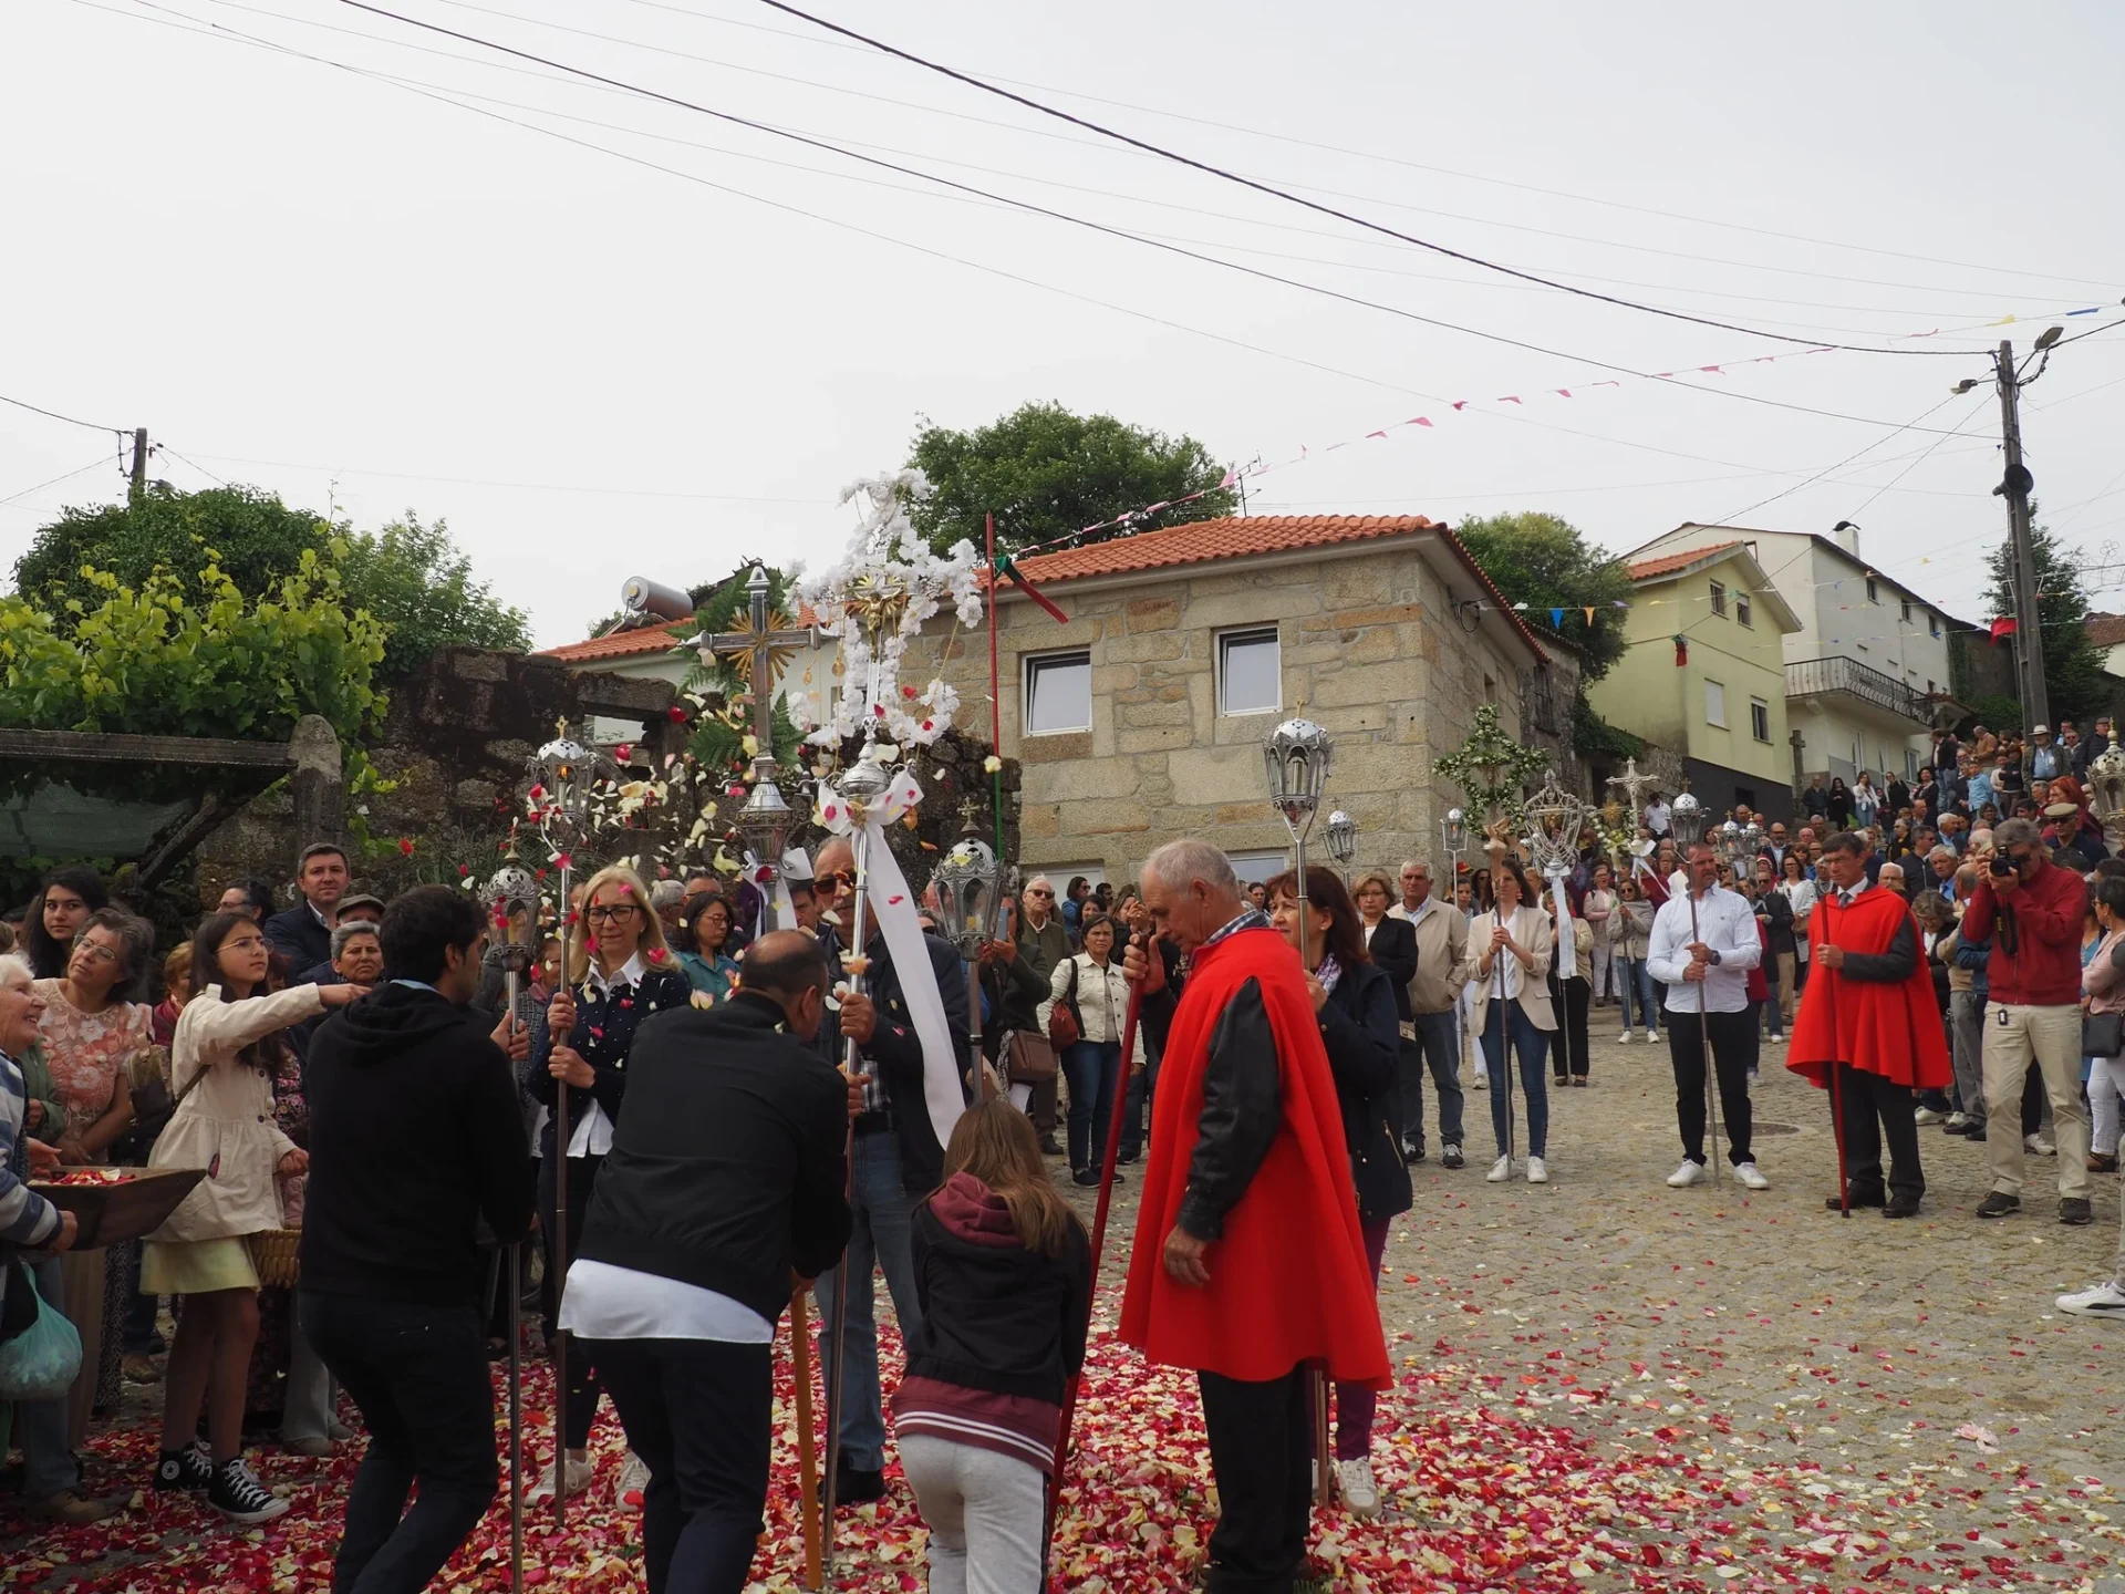
<path fill-rule="evenodd" d="M 1912 1090 L 1946 1090 L 1949 1046 L 1919 925 L 1902 893 L 1870 886 L 1866 842 L 1823 842 L 1828 876 L 1808 920 L 1813 969 L 1785 1067 L 1832 1090 L 1844 1190 L 1825 1205 L 1915 1218 L 1925 1194 Z M 1889 1141 L 1889 1177 L 1881 1143 Z"/>

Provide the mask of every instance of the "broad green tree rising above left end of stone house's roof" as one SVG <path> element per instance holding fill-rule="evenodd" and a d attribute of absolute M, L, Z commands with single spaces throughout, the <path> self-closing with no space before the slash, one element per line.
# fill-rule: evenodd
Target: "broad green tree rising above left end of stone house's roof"
<path fill-rule="evenodd" d="M 1060 404 L 1024 404 L 973 431 L 929 425 L 916 431 L 910 465 L 931 482 L 912 508 L 916 529 L 939 553 L 960 538 L 982 546 L 984 516 L 997 516 L 997 546 L 1052 542 L 1152 504 L 1171 508 L 1135 521 L 1152 531 L 1230 514 L 1237 493 L 1224 468 L 1190 436 L 1169 438 L 1116 421 L 1071 414 Z M 1173 499 L 1203 493 L 1192 504 Z"/>

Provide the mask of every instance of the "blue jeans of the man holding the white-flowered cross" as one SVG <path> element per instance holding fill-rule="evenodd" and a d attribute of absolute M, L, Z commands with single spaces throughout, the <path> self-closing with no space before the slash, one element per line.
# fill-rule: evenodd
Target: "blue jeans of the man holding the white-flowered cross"
<path fill-rule="evenodd" d="M 916 1112 L 922 1105 L 916 1103 Z M 905 1341 L 922 1326 L 922 1303 L 916 1299 L 916 1260 L 912 1248 L 916 1203 L 901 1188 L 901 1143 L 892 1131 L 856 1135 L 850 1160 L 848 1203 L 856 1226 L 848 1235 L 848 1330 L 842 1339 L 842 1409 L 829 1413 L 835 1443 L 858 1473 L 876 1473 L 886 1464 L 886 1413 L 878 1396 L 878 1309 L 873 1305 L 873 1269 L 886 1271 L 892 1292 L 892 1313 L 901 1320 Z M 818 1277 L 818 1320 L 833 1345 L 833 1303 L 839 1269 Z M 829 1350 L 827 1356 L 833 1352 Z"/>

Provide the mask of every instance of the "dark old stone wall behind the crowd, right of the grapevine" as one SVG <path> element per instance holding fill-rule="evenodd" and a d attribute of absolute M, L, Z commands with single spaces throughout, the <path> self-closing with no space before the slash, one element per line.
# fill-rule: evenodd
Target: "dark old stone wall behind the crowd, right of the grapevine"
<path fill-rule="evenodd" d="M 378 895 L 455 880 L 459 863 L 489 867 L 529 784 L 527 763 L 559 720 L 580 727 L 597 714 L 640 725 L 642 746 L 661 761 L 678 735 L 665 716 L 672 695 L 663 680 L 567 669 L 540 655 L 444 648 L 391 691 L 382 733 L 368 748 L 389 791 L 348 791 L 346 829 L 329 840 L 348 844 L 357 882 Z M 348 835 L 357 823 L 374 840 L 368 850 Z M 295 854 L 312 840 L 321 837 L 298 831 L 291 791 L 276 786 L 200 846 L 202 905 L 249 874 L 287 895 Z M 412 844 L 410 857 L 400 840 Z"/>

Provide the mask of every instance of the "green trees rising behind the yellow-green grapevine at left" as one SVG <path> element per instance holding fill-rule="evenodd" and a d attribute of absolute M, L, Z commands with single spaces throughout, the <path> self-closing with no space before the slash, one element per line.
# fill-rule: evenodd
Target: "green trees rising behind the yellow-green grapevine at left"
<path fill-rule="evenodd" d="M 45 608 L 60 633 L 74 625 L 70 604 L 100 604 L 85 570 L 140 591 L 157 572 L 187 601 L 202 601 L 230 582 L 259 599 L 298 574 L 304 555 L 336 565 L 342 601 L 382 627 L 382 674 L 404 676 L 436 648 L 465 644 L 525 648 L 525 614 L 504 608 L 474 580 L 472 561 L 450 542 L 442 521 L 423 525 L 406 514 L 378 531 L 355 531 L 308 510 L 295 510 L 257 487 L 210 487 L 178 493 L 149 489 L 138 504 L 66 510 L 42 527 L 15 563 L 17 591 Z M 210 584 L 200 572 L 212 567 Z"/>

